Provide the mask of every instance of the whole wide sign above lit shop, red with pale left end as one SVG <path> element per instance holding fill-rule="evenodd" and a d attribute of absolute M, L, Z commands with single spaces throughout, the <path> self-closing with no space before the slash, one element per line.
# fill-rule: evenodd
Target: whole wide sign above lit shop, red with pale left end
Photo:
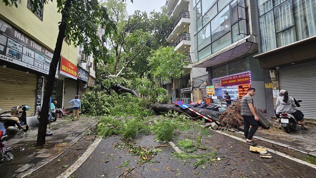
<path fill-rule="evenodd" d="M 241 74 L 213 79 L 213 85 L 215 86 L 215 88 L 232 87 L 232 86 L 238 86 L 238 85 L 244 85 L 244 84 L 250 84 L 250 83 L 251 83 L 250 72 L 244 72 Z"/>

